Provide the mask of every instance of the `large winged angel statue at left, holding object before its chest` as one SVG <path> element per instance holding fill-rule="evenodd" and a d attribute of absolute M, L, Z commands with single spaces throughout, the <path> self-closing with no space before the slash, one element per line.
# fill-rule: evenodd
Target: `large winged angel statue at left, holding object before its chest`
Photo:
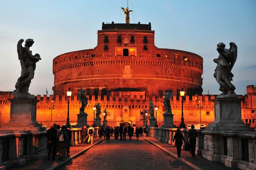
<path fill-rule="evenodd" d="M 34 99 L 34 95 L 29 93 L 31 80 L 34 78 L 35 63 L 41 60 L 39 54 L 32 54 L 30 47 L 33 45 L 33 39 L 26 39 L 25 47 L 22 47 L 24 39 L 20 39 L 17 44 L 18 58 L 21 65 L 21 76 L 15 85 L 16 90 L 12 93 L 14 98 Z"/>

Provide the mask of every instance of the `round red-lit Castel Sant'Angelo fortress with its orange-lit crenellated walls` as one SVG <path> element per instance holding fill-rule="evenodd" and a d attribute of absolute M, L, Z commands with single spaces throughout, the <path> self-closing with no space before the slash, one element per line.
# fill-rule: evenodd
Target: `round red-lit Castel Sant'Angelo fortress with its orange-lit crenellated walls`
<path fill-rule="evenodd" d="M 93 49 L 69 52 L 53 59 L 53 95 L 37 95 L 37 121 L 43 125 L 64 124 L 67 118 L 66 91 L 72 91 L 70 123 L 77 122 L 79 114 L 78 92 L 86 90 L 88 104 L 85 111 L 87 122 L 94 120 L 93 107 L 100 103 L 101 112 L 108 112 L 110 126 L 127 122 L 142 126 L 141 111 L 148 110 L 152 100 L 157 110 L 158 125 L 162 124 L 165 108 L 165 89 L 173 90 L 171 108 L 174 124 L 181 122 L 180 90 L 185 90 L 184 123 L 199 124 L 214 120 L 215 95 L 202 95 L 203 58 L 197 54 L 155 46 L 155 31 L 151 23 L 130 23 L 129 12 L 125 23 L 102 23 L 97 31 L 97 46 Z M 247 95 L 240 96 L 242 119 L 255 126 L 256 88 L 247 86 Z M 11 92 L 0 94 L 1 123 L 10 119 Z M 49 110 L 53 108 L 54 110 Z M 52 112 L 51 112 L 52 111 Z M 103 120 L 103 114 L 100 115 Z M 51 121 L 52 119 L 52 121 Z M 101 123 L 102 124 L 102 123 Z M 254 124 L 254 125 L 253 125 Z"/>

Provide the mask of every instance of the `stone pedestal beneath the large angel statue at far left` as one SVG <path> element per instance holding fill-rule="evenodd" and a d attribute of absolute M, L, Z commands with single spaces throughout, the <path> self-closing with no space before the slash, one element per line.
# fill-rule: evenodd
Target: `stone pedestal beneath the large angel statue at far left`
<path fill-rule="evenodd" d="M 8 99 L 11 101 L 10 120 L 1 131 L 43 131 L 36 121 L 36 99 Z"/>

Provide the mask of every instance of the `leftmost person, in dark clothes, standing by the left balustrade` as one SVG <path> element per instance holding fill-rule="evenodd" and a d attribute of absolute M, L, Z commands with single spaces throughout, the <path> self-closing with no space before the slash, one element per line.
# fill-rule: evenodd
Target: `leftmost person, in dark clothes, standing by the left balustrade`
<path fill-rule="evenodd" d="M 50 159 L 52 154 L 52 160 L 55 160 L 56 156 L 56 147 L 57 147 L 57 125 L 54 123 L 53 127 L 47 130 L 46 137 L 48 140 L 48 157 L 47 160 Z"/>

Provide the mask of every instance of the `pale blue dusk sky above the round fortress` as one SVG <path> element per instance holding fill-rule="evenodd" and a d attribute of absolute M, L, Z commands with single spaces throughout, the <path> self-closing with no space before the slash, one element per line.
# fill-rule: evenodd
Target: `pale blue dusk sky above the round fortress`
<path fill-rule="evenodd" d="M 19 39 L 34 39 L 36 63 L 31 94 L 53 94 L 53 58 L 57 55 L 96 47 L 102 22 L 124 23 L 120 7 L 127 0 L 109 1 L 20 1 L 0 0 L 0 91 L 13 91 L 20 76 L 17 55 Z M 203 94 L 220 94 L 213 77 L 218 57 L 216 44 L 235 42 L 237 61 L 233 67 L 235 92 L 246 93 L 256 84 L 255 0 L 129 0 L 131 23 L 148 24 L 155 30 L 155 45 L 189 51 L 203 57 Z M 25 43 L 25 42 L 24 42 Z M 23 46 L 24 46 L 23 43 Z"/>

